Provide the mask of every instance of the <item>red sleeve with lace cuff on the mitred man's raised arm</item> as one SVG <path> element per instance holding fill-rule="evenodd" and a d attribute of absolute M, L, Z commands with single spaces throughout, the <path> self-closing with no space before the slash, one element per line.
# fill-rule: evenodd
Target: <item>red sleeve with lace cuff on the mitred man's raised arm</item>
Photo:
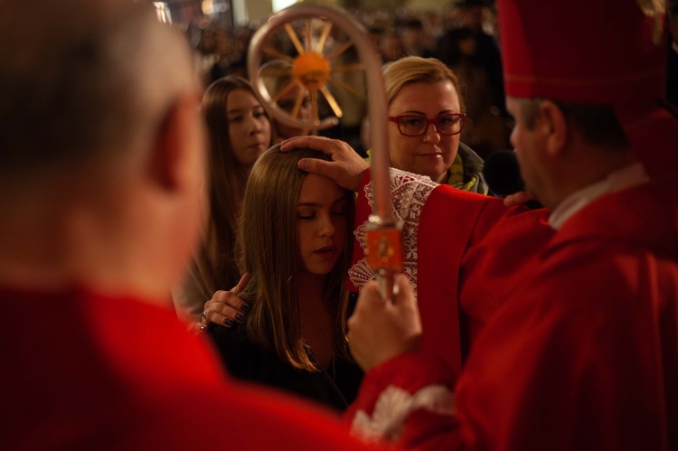
<path fill-rule="evenodd" d="M 372 276 L 361 225 L 372 212 L 368 182 L 365 177 L 356 209 L 354 290 L 365 274 Z M 403 221 L 403 272 L 418 294 L 423 349 L 443 357 L 458 375 L 477 332 L 503 302 L 505 287 L 551 239 L 548 212 L 506 208 L 502 199 L 393 169 L 391 193 Z"/>

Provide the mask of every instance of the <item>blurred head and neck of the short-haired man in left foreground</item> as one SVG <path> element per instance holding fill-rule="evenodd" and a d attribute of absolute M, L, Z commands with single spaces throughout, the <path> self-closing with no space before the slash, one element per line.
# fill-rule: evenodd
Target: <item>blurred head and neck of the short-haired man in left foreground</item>
<path fill-rule="evenodd" d="M 0 278 L 165 296 L 201 218 L 184 36 L 147 4 L 8 0 L 0 54 Z"/>

